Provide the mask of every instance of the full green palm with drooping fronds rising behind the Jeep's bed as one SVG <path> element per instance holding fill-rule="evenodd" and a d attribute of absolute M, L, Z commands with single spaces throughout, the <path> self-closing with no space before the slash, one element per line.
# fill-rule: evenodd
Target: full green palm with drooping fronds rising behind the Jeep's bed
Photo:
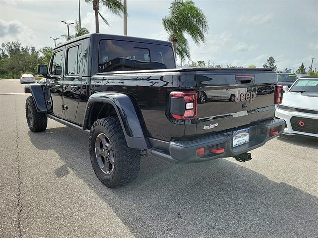
<path fill-rule="evenodd" d="M 189 43 L 185 33 L 198 45 L 205 42 L 205 34 L 209 29 L 205 15 L 192 0 L 172 2 L 169 15 L 162 19 L 162 23 L 181 63 L 186 58 L 190 59 Z"/>

